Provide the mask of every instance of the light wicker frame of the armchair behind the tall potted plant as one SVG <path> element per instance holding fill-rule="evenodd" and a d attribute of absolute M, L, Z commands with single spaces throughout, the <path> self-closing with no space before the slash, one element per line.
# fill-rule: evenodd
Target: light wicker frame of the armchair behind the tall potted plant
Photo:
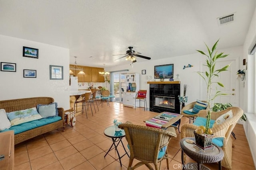
<path fill-rule="evenodd" d="M 220 115 L 227 113 L 228 111 L 232 110 L 233 117 L 231 119 L 226 120 L 224 123 L 220 125 L 214 125 L 212 127 L 212 131 L 214 134 L 214 138 L 216 137 L 223 137 L 223 147 L 222 150 L 224 152 L 224 158 L 221 162 L 222 166 L 228 169 L 232 168 L 232 139 L 230 134 L 234 129 L 237 121 L 243 115 L 243 110 L 239 107 L 229 107 L 228 109 L 212 112 L 211 119 L 216 120 Z M 206 117 L 207 111 L 201 110 L 198 113 L 198 117 Z M 181 137 L 194 137 L 194 130 L 197 129 L 198 126 L 186 123 L 181 127 Z"/>

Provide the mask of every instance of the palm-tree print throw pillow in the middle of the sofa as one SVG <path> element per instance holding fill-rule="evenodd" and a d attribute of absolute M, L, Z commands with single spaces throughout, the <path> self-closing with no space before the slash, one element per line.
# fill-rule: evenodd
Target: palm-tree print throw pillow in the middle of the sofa
<path fill-rule="evenodd" d="M 32 120 L 42 119 L 36 107 L 6 113 L 12 125 L 19 125 Z"/>

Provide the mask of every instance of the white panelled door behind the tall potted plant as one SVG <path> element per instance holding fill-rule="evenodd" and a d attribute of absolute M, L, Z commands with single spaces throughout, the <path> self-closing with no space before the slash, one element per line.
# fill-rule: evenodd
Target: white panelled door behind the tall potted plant
<path fill-rule="evenodd" d="M 218 91 L 221 91 L 222 93 L 228 94 L 228 95 L 222 95 L 218 96 L 214 103 L 230 103 L 232 106 L 238 106 L 238 80 L 236 71 L 238 70 L 238 61 L 236 59 L 226 59 L 226 60 L 220 60 L 216 62 L 215 69 L 220 69 L 226 65 L 230 64 L 228 71 L 223 71 L 219 73 L 219 77 L 214 78 L 212 82 L 221 82 L 224 85 L 224 88 L 220 87 L 218 84 L 213 84 L 212 86 L 212 96 L 216 94 L 216 87 Z M 206 67 L 203 66 L 203 71 L 205 71 Z M 202 96 L 201 98 L 203 100 L 206 99 L 206 85 L 204 80 L 201 81 L 201 85 L 203 88 L 201 88 Z"/>

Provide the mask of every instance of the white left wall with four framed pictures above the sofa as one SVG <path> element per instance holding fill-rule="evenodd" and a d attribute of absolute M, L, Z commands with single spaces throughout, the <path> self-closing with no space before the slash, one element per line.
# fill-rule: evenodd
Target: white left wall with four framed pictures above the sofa
<path fill-rule="evenodd" d="M 38 59 L 22 57 L 23 46 L 39 49 Z M 47 96 L 69 109 L 69 49 L 0 35 L 0 61 L 16 63 L 16 72 L 0 71 L 0 100 Z M 63 66 L 63 80 L 50 80 L 50 65 Z M 23 78 L 23 69 L 36 78 Z"/>

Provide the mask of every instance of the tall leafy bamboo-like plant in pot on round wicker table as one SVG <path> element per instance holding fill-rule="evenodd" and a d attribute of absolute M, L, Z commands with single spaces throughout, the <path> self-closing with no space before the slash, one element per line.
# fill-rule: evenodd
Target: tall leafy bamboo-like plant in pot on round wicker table
<path fill-rule="evenodd" d="M 219 40 L 218 40 L 219 41 Z M 208 46 L 207 50 L 208 50 L 208 54 L 205 54 L 203 51 L 200 50 L 196 50 L 199 53 L 201 53 L 202 55 L 206 56 L 206 64 L 204 64 L 204 66 L 206 66 L 206 71 L 205 72 L 198 72 L 198 74 L 203 78 L 204 82 L 206 83 L 206 88 L 207 88 L 207 98 L 206 98 L 206 102 L 207 102 L 207 107 L 206 107 L 206 111 L 207 111 L 207 120 L 206 120 L 206 126 L 202 127 L 200 126 L 199 129 L 196 129 L 196 131 L 194 132 L 195 137 L 196 135 L 201 135 L 203 137 L 205 137 L 208 142 L 204 142 L 204 145 L 202 147 L 207 147 L 205 145 L 211 145 L 212 143 L 212 131 L 211 129 L 209 130 L 210 127 L 210 119 L 211 119 L 211 113 L 212 113 L 212 104 L 213 101 L 216 97 L 221 96 L 221 95 L 226 95 L 220 91 L 217 91 L 214 95 L 212 94 L 212 84 L 218 84 L 218 86 L 220 87 L 224 87 L 224 85 L 220 82 L 216 82 L 213 81 L 213 78 L 218 78 L 218 74 L 220 72 L 223 71 L 227 71 L 227 68 L 230 66 L 229 64 L 224 66 L 223 68 L 220 69 L 216 69 L 215 65 L 216 62 L 221 59 L 221 58 L 225 58 L 228 55 L 224 55 L 223 53 L 217 53 L 216 47 L 218 44 L 218 41 L 213 45 L 212 49 L 209 49 Z M 210 141 L 209 141 L 210 140 Z M 196 143 L 198 144 L 198 141 L 196 141 Z"/>

